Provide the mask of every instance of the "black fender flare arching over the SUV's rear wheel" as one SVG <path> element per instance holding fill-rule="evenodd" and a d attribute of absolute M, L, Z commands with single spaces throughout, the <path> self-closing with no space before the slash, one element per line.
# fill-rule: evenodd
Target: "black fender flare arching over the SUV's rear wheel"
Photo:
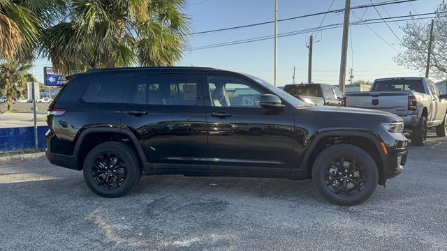
<path fill-rule="evenodd" d="M 76 140 L 76 144 L 75 144 L 75 150 L 74 150 L 74 157 L 75 160 L 78 160 L 78 153 L 79 153 L 79 149 L 82 145 L 82 142 L 84 141 L 85 137 L 87 137 L 87 135 L 94 133 L 94 132 L 112 132 L 112 133 L 117 133 L 120 135 L 126 135 L 127 137 L 129 137 L 129 139 L 131 139 L 133 145 L 135 146 L 135 149 L 137 151 L 138 156 L 140 157 L 141 162 L 144 164 L 145 162 L 147 162 L 147 158 L 145 155 L 145 152 L 142 150 L 142 147 L 140 145 L 140 142 L 138 141 L 137 137 L 135 136 L 135 134 L 133 134 L 133 132 L 129 129 L 125 129 L 125 128 L 110 128 L 110 127 L 96 127 L 96 128 L 87 128 L 86 130 L 83 130 L 78 139 Z"/>

